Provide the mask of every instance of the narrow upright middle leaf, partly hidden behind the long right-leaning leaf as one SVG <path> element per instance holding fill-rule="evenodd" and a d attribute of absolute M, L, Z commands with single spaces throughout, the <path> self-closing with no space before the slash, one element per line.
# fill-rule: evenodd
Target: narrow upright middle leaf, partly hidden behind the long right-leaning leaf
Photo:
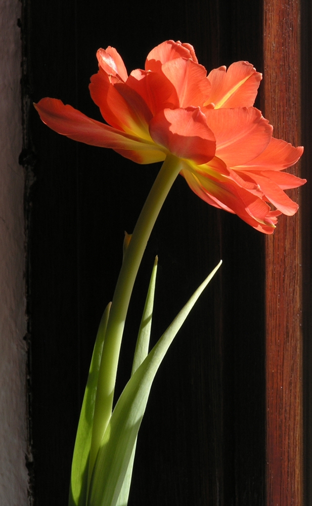
<path fill-rule="evenodd" d="M 158 257 L 155 258 L 154 267 L 152 270 L 152 276 L 150 280 L 149 289 L 147 292 L 147 298 L 143 310 L 142 320 L 140 324 L 135 357 L 133 359 L 131 376 L 136 372 L 138 367 L 142 364 L 143 360 L 147 357 L 149 346 L 150 346 L 150 336 L 151 336 L 151 327 L 152 327 L 152 316 L 153 316 L 153 307 L 154 307 L 154 294 L 155 294 L 155 283 L 156 283 L 156 273 L 157 273 L 157 263 Z M 122 483 L 122 487 L 120 490 L 120 494 L 118 500 L 116 502 L 116 506 L 127 506 L 131 478 L 132 478 L 132 470 L 133 470 L 133 462 L 135 460 L 136 454 L 136 446 L 137 442 L 133 446 L 131 458 L 129 460 L 128 468 Z"/>

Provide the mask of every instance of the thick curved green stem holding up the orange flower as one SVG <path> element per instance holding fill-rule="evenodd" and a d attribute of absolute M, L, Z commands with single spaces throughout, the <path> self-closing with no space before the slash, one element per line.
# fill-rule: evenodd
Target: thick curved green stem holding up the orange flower
<path fill-rule="evenodd" d="M 98 449 L 112 412 L 119 351 L 129 300 L 139 266 L 162 204 L 181 171 L 181 160 L 168 155 L 147 197 L 126 249 L 105 334 L 90 451 L 90 482 Z"/>

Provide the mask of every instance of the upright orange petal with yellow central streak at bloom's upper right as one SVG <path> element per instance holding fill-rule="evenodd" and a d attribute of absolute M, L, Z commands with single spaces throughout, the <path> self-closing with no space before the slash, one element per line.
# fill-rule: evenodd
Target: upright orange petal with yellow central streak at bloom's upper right
<path fill-rule="evenodd" d="M 250 107 L 254 104 L 262 74 L 248 62 L 232 63 L 226 67 L 212 70 L 208 79 L 211 82 L 209 102 L 216 109 L 220 107 Z"/>

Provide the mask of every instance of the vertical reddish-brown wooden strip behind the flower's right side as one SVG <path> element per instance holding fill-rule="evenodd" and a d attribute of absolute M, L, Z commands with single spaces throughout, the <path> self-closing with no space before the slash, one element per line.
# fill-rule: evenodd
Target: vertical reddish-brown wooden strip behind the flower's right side
<path fill-rule="evenodd" d="M 300 5 L 264 0 L 264 113 L 300 144 Z M 298 175 L 298 167 L 291 170 Z M 298 190 L 289 195 L 298 200 Z M 302 506 L 300 211 L 266 240 L 266 506 Z"/>

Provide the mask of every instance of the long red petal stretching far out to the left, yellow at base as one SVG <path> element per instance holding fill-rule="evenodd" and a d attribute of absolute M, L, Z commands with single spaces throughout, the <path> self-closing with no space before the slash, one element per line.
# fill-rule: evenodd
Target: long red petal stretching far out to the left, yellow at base
<path fill-rule="evenodd" d="M 40 118 L 52 130 L 74 141 L 112 148 L 138 163 L 154 163 L 165 159 L 166 150 L 88 118 L 61 100 L 44 98 L 34 104 Z"/>

